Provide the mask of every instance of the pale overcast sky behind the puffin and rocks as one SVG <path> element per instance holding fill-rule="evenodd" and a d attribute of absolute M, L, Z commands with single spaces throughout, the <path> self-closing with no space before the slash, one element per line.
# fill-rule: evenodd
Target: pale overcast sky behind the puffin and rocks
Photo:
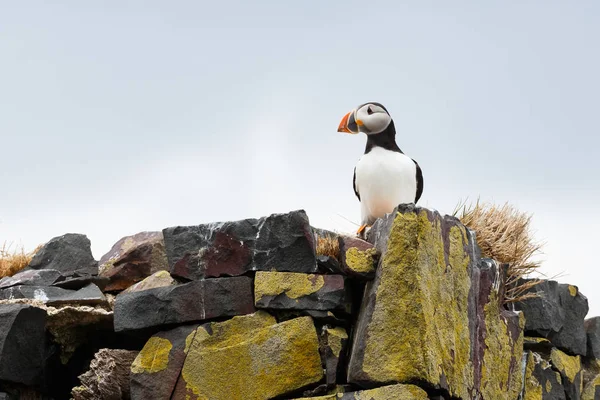
<path fill-rule="evenodd" d="M 354 231 L 383 103 L 420 204 L 533 213 L 600 314 L 600 2 L 20 1 L 0 10 L 0 243 L 305 209 Z"/>

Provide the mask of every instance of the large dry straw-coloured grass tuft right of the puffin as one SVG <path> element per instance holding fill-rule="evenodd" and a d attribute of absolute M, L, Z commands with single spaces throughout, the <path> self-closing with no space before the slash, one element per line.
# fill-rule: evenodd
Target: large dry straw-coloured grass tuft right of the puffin
<path fill-rule="evenodd" d="M 505 303 L 514 303 L 532 297 L 526 293 L 540 280 L 518 284 L 541 266 L 534 256 L 541 253 L 543 244 L 531 232 L 531 216 L 518 211 L 508 203 L 497 206 L 489 203 L 459 204 L 454 211 L 464 225 L 477 234 L 477 243 L 484 257 L 509 265 L 506 279 Z"/>

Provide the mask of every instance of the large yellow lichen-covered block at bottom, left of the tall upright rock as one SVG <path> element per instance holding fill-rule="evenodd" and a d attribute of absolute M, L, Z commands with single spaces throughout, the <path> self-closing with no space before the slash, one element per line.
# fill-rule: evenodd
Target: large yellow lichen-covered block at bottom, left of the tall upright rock
<path fill-rule="evenodd" d="M 173 398 L 270 399 L 322 379 L 310 317 L 254 330 L 221 325 L 228 322 L 198 328 Z"/>

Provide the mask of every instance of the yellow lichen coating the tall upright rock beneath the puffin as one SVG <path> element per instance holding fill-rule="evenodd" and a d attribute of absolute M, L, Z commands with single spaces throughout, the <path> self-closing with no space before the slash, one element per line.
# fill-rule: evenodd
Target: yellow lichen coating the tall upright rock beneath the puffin
<path fill-rule="evenodd" d="M 439 218 L 426 211 L 395 217 L 362 360 L 374 382 L 423 380 L 468 398 L 473 386 L 468 320 L 466 231 L 450 233 L 449 264 Z M 443 304 L 444 307 L 440 307 Z"/>

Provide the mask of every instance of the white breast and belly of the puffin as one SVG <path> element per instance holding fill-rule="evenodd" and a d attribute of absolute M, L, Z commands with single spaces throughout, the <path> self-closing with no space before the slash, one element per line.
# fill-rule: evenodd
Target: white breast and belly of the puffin
<path fill-rule="evenodd" d="M 410 157 L 374 147 L 356 164 L 363 223 L 373 223 L 401 203 L 414 203 L 417 167 Z"/>

